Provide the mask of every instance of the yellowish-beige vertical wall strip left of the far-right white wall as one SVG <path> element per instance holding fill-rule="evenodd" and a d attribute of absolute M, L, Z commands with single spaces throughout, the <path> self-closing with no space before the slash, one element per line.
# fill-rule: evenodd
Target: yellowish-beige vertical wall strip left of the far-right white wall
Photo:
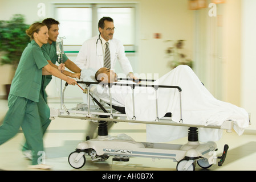
<path fill-rule="evenodd" d="M 223 98 L 241 105 L 241 1 L 229 0 L 224 11 Z"/>

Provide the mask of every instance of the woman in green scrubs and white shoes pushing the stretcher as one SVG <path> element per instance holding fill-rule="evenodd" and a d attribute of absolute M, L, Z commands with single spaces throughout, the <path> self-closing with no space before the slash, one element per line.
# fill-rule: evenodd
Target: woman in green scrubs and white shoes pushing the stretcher
<path fill-rule="evenodd" d="M 29 168 L 49 169 L 44 163 L 43 134 L 36 102 L 39 100 L 42 75 L 54 75 L 68 84 L 77 84 L 73 78 L 63 75 L 48 64 L 40 47 L 47 43 L 48 28 L 34 23 L 26 31 L 31 43 L 24 49 L 8 97 L 9 110 L 0 126 L 0 145 L 11 139 L 22 127 L 27 143 L 32 149 Z M 1 147 L 0 147 L 1 148 Z"/>

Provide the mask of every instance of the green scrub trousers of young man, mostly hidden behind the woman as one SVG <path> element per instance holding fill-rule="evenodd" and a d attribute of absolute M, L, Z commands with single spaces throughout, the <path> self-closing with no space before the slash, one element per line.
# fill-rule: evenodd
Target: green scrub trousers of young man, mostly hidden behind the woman
<path fill-rule="evenodd" d="M 43 131 L 43 135 L 44 135 L 44 133 L 46 133 L 47 127 L 51 123 L 51 119 L 49 119 L 50 118 L 50 108 L 47 105 L 46 99 L 43 97 L 42 91 L 40 91 L 39 102 L 37 102 L 36 105 L 38 107 L 41 127 L 42 127 L 42 131 Z M 26 151 L 26 150 L 31 150 L 31 146 L 29 146 L 29 143 L 27 141 L 25 142 L 25 144 L 22 147 L 22 151 Z"/>

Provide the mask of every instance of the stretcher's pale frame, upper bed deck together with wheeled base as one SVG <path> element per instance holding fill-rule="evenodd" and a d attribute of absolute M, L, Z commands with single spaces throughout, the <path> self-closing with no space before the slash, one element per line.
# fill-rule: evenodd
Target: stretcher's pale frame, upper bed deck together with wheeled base
<path fill-rule="evenodd" d="M 227 132 L 231 132 L 233 128 L 233 121 L 225 121 L 221 126 L 204 126 L 176 123 L 173 122 L 170 118 L 161 118 L 157 121 L 150 122 L 128 120 L 125 117 L 125 114 L 120 113 L 113 113 L 111 118 L 109 113 L 101 113 L 99 110 L 97 110 L 97 107 L 95 107 L 90 114 L 88 114 L 87 111 L 79 110 L 78 106 L 68 110 L 68 112 L 66 110 L 57 109 L 51 113 L 55 113 L 52 114 L 52 117 L 59 118 L 83 119 L 88 121 L 94 120 L 106 122 L 111 121 L 144 123 L 152 125 L 186 126 L 189 127 L 189 129 L 193 128 L 196 130 L 199 127 L 207 127 L 212 129 L 223 129 L 227 130 Z M 95 115 L 108 115 L 109 117 L 101 118 L 95 117 Z M 84 164 L 86 164 L 86 155 L 90 155 L 92 161 L 104 161 L 107 160 L 109 156 L 113 157 L 112 160 L 123 162 L 128 161 L 133 157 L 172 159 L 174 162 L 177 162 L 177 171 L 194 171 L 196 163 L 202 168 L 209 168 L 213 164 L 217 164 L 217 159 L 221 158 L 216 156 L 217 150 L 217 144 L 215 142 L 200 143 L 198 140 L 196 140 L 188 141 L 186 144 L 148 143 L 136 142 L 133 140 L 110 140 L 108 136 L 99 136 L 96 139 L 90 139 L 78 143 L 75 151 L 71 152 L 71 154 L 68 156 L 68 162 L 73 168 L 82 168 Z M 224 151 L 224 153 L 226 156 L 227 150 Z M 224 160 L 222 160 L 222 163 Z"/>

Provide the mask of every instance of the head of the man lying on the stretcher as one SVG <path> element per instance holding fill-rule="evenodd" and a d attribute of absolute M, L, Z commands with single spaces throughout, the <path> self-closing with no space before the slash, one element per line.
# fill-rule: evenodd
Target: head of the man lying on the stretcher
<path fill-rule="evenodd" d="M 115 72 L 108 68 L 100 68 L 96 73 L 95 73 L 95 79 L 98 82 L 104 82 L 104 83 L 112 83 L 117 81 L 117 75 Z"/>

